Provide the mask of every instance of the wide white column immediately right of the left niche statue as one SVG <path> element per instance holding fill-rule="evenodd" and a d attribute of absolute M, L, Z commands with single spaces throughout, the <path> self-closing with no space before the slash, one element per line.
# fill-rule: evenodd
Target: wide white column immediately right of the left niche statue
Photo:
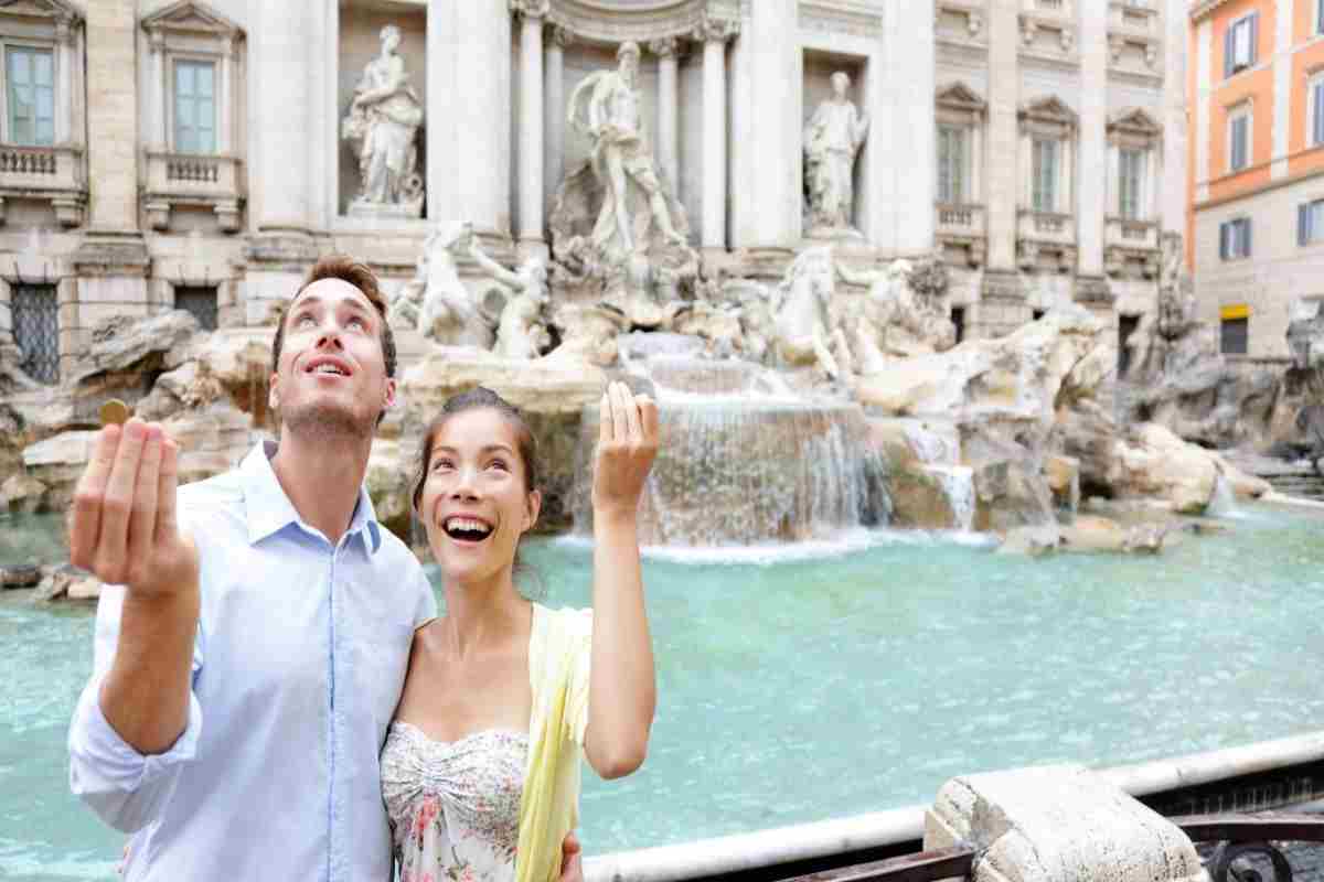
<path fill-rule="evenodd" d="M 511 7 L 428 3 L 428 217 L 510 245 Z"/>

